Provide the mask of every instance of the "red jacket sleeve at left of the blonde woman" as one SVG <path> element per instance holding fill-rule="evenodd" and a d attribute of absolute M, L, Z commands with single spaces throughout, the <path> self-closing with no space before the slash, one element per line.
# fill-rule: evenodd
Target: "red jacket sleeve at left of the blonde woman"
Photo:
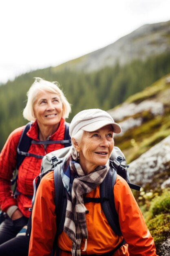
<path fill-rule="evenodd" d="M 0 153 L 0 208 L 4 212 L 10 206 L 17 205 L 11 195 L 11 178 L 16 168 L 17 146 L 23 127 L 11 132 Z"/>

